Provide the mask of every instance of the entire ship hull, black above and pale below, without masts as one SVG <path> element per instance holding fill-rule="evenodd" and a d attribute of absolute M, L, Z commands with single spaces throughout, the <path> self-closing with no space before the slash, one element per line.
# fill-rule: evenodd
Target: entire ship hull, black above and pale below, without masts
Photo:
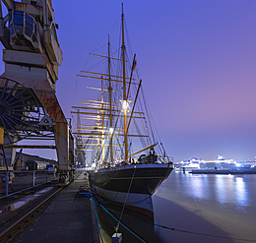
<path fill-rule="evenodd" d="M 127 164 L 89 173 L 93 192 L 101 199 L 125 205 L 153 217 L 152 195 L 172 171 L 172 163 Z"/>

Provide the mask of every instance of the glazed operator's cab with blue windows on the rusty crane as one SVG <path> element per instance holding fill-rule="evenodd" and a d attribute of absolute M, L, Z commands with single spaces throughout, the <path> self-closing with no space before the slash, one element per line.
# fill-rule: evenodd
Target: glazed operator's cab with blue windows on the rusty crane
<path fill-rule="evenodd" d="M 9 13 L 9 30 L 16 44 L 33 45 L 36 41 L 36 22 L 24 12 Z"/>

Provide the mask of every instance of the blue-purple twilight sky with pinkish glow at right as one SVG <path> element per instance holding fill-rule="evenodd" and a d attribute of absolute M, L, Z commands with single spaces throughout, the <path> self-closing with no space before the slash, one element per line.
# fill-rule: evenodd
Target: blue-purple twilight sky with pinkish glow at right
<path fill-rule="evenodd" d="M 218 154 L 254 159 L 256 1 L 123 3 L 144 91 L 152 96 L 148 102 L 167 153 L 174 161 Z M 53 8 L 64 55 L 57 96 L 71 117 L 71 106 L 85 95 L 76 75 L 120 20 L 121 1 L 53 0 Z"/>

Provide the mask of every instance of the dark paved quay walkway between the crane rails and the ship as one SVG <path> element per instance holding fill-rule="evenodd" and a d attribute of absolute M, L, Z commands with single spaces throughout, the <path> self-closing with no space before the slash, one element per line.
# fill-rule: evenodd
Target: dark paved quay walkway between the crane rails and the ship
<path fill-rule="evenodd" d="M 99 242 L 94 205 L 79 194 L 86 183 L 79 175 L 15 242 Z"/>

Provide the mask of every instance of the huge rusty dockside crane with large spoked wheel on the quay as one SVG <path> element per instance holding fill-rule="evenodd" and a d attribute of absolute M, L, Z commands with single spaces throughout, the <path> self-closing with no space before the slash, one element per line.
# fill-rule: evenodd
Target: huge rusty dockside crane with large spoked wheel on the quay
<path fill-rule="evenodd" d="M 52 132 L 59 181 L 67 184 L 73 178 L 75 152 L 71 128 L 55 93 L 58 67 L 63 60 L 56 29 L 51 0 L 0 0 L 0 40 L 5 48 L 0 126 L 5 129 L 9 164 L 14 160 L 12 146 L 17 148 L 18 141 L 28 137 L 43 139 L 45 133 Z"/>

